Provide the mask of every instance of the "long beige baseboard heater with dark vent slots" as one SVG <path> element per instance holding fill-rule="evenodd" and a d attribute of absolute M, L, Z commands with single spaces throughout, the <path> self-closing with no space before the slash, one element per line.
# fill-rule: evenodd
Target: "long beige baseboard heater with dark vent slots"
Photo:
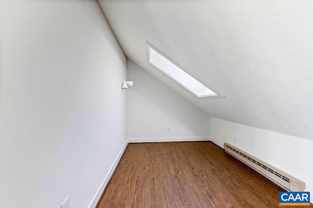
<path fill-rule="evenodd" d="M 305 189 L 305 183 L 303 181 L 269 165 L 268 163 L 246 153 L 245 151 L 232 146 L 231 144 L 224 143 L 224 150 L 236 159 L 245 163 L 250 168 L 258 171 L 283 189 L 288 191 L 304 191 Z"/>

